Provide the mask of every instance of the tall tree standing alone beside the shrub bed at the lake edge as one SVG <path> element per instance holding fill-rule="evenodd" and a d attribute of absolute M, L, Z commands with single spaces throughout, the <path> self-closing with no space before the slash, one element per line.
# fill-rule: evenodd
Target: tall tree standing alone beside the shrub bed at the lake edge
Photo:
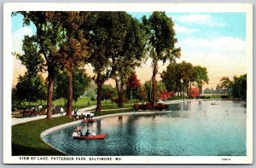
<path fill-rule="evenodd" d="M 153 96 L 151 102 L 154 107 L 156 99 L 155 76 L 158 72 L 158 61 L 163 61 L 163 63 L 167 60 L 175 61 L 180 56 L 180 48 L 175 48 L 177 38 L 174 38 L 174 24 L 172 19 L 166 16 L 165 12 L 154 12 L 149 16 L 148 20 L 146 16 L 143 16 L 143 25 L 148 34 L 149 56 L 153 60 Z"/>

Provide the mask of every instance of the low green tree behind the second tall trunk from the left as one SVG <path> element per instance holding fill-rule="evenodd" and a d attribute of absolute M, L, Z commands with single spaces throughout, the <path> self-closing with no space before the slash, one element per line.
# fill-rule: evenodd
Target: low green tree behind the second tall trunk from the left
<path fill-rule="evenodd" d="M 75 68 L 73 71 L 73 100 L 78 101 L 79 97 L 84 94 L 84 91 L 90 85 L 90 77 L 84 69 Z M 69 97 L 68 74 L 65 71 L 60 71 L 55 76 L 55 99 L 63 98 L 65 106 Z"/>

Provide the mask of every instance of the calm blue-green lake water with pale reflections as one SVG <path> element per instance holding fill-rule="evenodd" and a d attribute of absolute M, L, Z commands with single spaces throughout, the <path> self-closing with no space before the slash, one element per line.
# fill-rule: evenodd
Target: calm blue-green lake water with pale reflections
<path fill-rule="evenodd" d="M 71 125 L 44 137 L 70 155 L 245 156 L 246 107 L 239 101 L 188 101 L 172 113 L 124 115 Z M 80 127 L 108 133 L 104 140 L 73 140 Z"/>

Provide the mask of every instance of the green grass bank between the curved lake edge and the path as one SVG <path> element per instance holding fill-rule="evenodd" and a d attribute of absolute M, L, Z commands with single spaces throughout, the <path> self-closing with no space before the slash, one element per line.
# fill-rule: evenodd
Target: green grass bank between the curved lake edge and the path
<path fill-rule="evenodd" d="M 96 113 L 96 116 L 102 116 L 111 113 L 133 112 L 133 109 L 117 109 L 113 111 L 102 111 Z M 12 126 L 12 154 L 13 155 L 64 155 L 54 148 L 45 144 L 40 134 L 51 127 L 72 122 L 65 116 L 53 119 L 38 119 L 27 123 Z"/>

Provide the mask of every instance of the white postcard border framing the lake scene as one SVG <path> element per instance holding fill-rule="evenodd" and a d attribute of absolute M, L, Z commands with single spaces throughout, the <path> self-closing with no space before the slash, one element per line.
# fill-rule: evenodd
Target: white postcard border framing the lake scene
<path fill-rule="evenodd" d="M 58 8 L 56 8 L 58 7 Z M 3 113 L 3 163 L 6 164 L 251 164 L 253 162 L 253 6 L 249 3 L 5 3 L 3 7 L 3 111 L 11 111 L 11 13 L 20 10 L 98 10 L 247 13 L 247 156 L 121 156 L 121 160 L 40 160 L 11 155 L 11 115 Z M 64 158 L 89 156 L 61 156 Z M 97 158 L 98 156 L 91 156 Z M 118 158 L 104 156 L 102 158 Z M 35 158 L 35 159 L 34 159 Z"/>

